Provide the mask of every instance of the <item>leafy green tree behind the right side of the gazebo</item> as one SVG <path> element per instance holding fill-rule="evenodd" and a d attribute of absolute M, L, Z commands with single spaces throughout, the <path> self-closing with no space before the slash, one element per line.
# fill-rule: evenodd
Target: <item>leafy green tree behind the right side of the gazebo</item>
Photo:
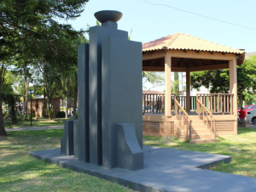
<path fill-rule="evenodd" d="M 253 103 L 256 93 L 256 56 L 247 58 L 244 64 L 237 66 L 237 94 L 242 104 L 243 98 Z M 192 88 L 204 86 L 210 89 L 210 93 L 229 93 L 230 71 L 199 71 L 191 73 Z"/>

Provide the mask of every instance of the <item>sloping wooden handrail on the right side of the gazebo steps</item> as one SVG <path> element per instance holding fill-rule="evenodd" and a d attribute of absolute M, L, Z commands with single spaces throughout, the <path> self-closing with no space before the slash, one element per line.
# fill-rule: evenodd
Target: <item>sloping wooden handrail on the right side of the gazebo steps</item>
<path fill-rule="evenodd" d="M 198 109 L 198 116 L 201 117 L 202 113 L 202 120 L 207 120 L 207 127 L 210 127 L 212 133 L 214 134 L 214 138 L 216 138 L 216 119 L 212 115 L 212 112 L 207 109 L 205 104 L 201 103 L 201 100 L 196 99 L 197 109 Z"/>

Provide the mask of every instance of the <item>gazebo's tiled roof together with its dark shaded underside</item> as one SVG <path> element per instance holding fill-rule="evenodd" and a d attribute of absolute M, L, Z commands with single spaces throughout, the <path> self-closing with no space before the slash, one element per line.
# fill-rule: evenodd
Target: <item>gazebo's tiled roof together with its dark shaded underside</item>
<path fill-rule="evenodd" d="M 183 54 L 186 54 L 188 51 L 195 51 L 198 54 L 202 52 L 208 52 L 210 54 L 236 54 L 236 56 L 238 56 L 237 65 L 241 65 L 245 58 L 244 50 L 229 48 L 184 33 L 175 33 L 143 44 L 143 54 L 154 54 L 154 52 L 166 50 L 180 50 L 183 51 Z M 228 61 L 218 59 L 172 58 L 172 67 L 195 67 L 219 64 L 228 64 Z M 165 66 L 165 58 L 143 60 L 143 66 L 163 67 Z"/>

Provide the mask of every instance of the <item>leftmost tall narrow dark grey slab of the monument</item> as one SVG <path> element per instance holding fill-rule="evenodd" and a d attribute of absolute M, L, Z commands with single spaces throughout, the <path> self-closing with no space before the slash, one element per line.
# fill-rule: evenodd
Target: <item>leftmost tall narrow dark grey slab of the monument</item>
<path fill-rule="evenodd" d="M 89 44 L 79 45 L 78 59 L 79 120 L 74 123 L 74 156 L 89 162 Z"/>

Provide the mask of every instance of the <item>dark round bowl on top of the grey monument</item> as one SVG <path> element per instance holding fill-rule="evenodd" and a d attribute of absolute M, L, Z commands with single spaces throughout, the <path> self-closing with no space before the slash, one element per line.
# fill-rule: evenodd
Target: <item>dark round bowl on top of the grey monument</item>
<path fill-rule="evenodd" d="M 96 12 L 94 16 L 101 23 L 105 23 L 107 21 L 118 22 L 122 18 L 123 14 L 119 11 L 103 10 Z"/>

